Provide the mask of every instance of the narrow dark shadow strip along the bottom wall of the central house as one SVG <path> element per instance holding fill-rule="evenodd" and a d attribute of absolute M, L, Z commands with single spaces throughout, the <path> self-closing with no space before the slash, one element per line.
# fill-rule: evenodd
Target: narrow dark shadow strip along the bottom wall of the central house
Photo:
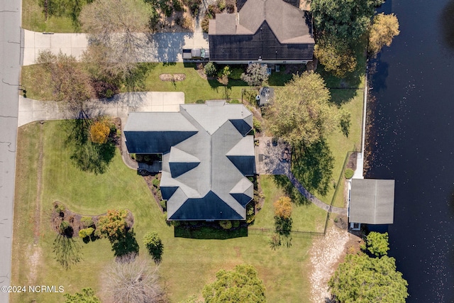
<path fill-rule="evenodd" d="M 236 229 L 226 230 L 210 226 L 175 226 L 174 232 L 175 238 L 226 240 L 231 238 L 247 237 L 248 227 L 240 226 Z"/>

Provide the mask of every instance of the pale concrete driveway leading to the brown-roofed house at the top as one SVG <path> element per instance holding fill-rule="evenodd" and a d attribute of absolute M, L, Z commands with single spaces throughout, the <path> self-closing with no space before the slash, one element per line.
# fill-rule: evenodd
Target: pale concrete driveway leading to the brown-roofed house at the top
<path fill-rule="evenodd" d="M 137 34 L 142 41 L 139 62 L 183 62 L 183 48 L 208 48 L 208 34 L 201 33 L 155 33 Z M 65 53 L 79 57 L 87 49 L 84 33 L 36 33 L 23 30 L 23 65 L 35 64 L 41 50 Z"/>

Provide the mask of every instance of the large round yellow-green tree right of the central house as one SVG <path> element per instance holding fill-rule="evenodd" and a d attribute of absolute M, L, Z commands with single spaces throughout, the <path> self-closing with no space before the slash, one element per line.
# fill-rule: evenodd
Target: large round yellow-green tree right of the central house
<path fill-rule="evenodd" d="M 274 101 L 266 112 L 270 131 L 292 144 L 308 146 L 321 141 L 338 125 L 330 97 L 320 75 L 294 75 L 284 87 L 275 90 Z"/>

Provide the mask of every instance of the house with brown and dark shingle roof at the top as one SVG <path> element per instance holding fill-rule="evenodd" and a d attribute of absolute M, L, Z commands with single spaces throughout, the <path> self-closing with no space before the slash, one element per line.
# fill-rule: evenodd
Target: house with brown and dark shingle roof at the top
<path fill-rule="evenodd" d="M 283 0 L 238 0 L 237 6 L 238 13 L 216 13 L 216 19 L 210 20 L 211 61 L 294 64 L 312 60 L 315 42 L 307 11 Z"/>

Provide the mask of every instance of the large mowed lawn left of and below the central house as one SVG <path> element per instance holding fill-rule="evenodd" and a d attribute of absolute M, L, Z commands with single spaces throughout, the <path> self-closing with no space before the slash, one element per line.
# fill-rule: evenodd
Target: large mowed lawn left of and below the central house
<path fill-rule="evenodd" d="M 165 248 L 160 265 L 161 282 L 171 302 L 179 302 L 192 294 L 200 297 L 204 285 L 215 279 L 218 270 L 230 270 L 240 263 L 249 263 L 258 269 L 267 287 L 269 302 L 305 302 L 310 297 L 307 268 L 311 238 L 295 237 L 290 248 L 278 250 L 270 249 L 267 236 L 255 234 L 227 240 L 175 238 L 174 228 L 165 224 L 145 181 L 123 165 L 118 151 L 104 174 L 82 172 L 70 160 L 64 129 L 64 121 L 31 123 L 19 128 L 11 285 L 62 285 L 65 292 L 72 293 L 82 287 L 93 287 L 96 293 L 101 292 L 101 272 L 114 262 L 110 244 L 105 239 L 87 244 L 79 241 L 83 260 L 70 270 L 63 269 L 52 253 L 55 233 L 50 229 L 50 209 L 57 200 L 72 211 L 87 215 L 102 214 L 113 208 L 130 209 L 140 255 L 144 258 L 148 257 L 143 236 L 148 231 L 157 231 Z M 40 132 L 43 132 L 43 177 L 39 236 L 34 246 Z M 272 189 L 271 177 L 262 180 L 262 187 L 270 189 L 267 192 L 270 196 L 273 192 L 280 194 L 278 189 Z M 297 214 L 295 211 L 294 221 L 299 220 Z M 304 214 L 301 211 L 301 215 Z M 268 217 L 265 206 L 258 214 L 257 226 L 272 226 L 274 221 L 270 222 Z M 317 227 L 310 217 L 306 220 L 301 216 L 301 220 L 313 222 L 308 223 L 307 228 Z M 61 293 L 11 294 L 11 302 L 33 299 L 52 303 L 62 302 L 64 297 Z"/>

